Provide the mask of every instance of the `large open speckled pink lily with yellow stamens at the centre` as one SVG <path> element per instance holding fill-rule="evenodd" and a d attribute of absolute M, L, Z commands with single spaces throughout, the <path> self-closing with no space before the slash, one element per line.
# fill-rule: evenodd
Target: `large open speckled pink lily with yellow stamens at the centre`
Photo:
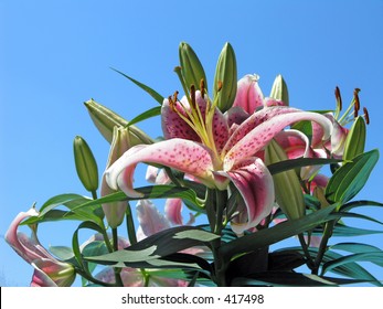
<path fill-rule="evenodd" d="M 129 196 L 142 196 L 132 188 L 132 175 L 139 162 L 151 162 L 195 177 L 209 188 L 226 190 L 233 182 L 245 201 L 241 222 L 232 228 L 241 234 L 256 226 L 274 204 L 273 178 L 257 153 L 285 127 L 300 120 L 318 122 L 323 138 L 331 132 L 331 121 L 322 115 L 276 106 L 252 114 L 230 130 L 227 118 L 200 92 L 190 103 L 177 96 L 162 105 L 162 129 L 167 140 L 140 145 L 123 154 L 106 170 L 106 181 Z"/>

